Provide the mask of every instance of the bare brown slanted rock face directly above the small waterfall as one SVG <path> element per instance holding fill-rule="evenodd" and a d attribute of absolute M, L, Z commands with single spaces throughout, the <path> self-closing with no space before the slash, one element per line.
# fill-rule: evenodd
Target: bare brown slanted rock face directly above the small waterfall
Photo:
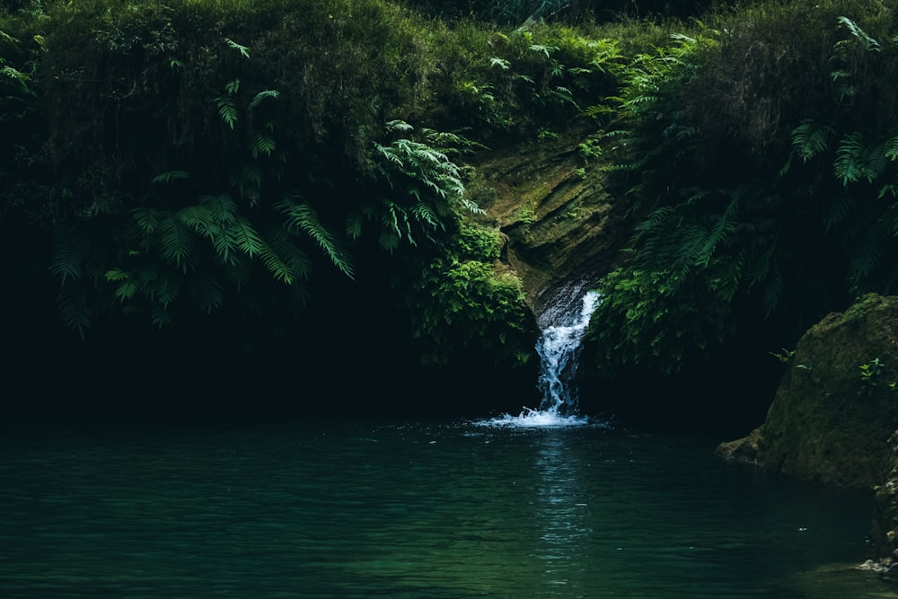
<path fill-rule="evenodd" d="M 538 316 L 557 295 L 579 301 L 629 237 L 622 203 L 604 190 L 595 166 L 599 153 L 588 131 L 570 131 L 473 161 L 472 198 L 506 235 L 504 260 Z"/>

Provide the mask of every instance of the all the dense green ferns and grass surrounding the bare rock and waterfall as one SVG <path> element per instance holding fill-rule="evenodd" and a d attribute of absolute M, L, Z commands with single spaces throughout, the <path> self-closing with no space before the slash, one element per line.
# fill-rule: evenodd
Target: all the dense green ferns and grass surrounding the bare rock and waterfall
<path fill-rule="evenodd" d="M 881 1 L 0 11 L 7 313 L 51 319 L 50 296 L 88 342 L 216 330 L 240 359 L 268 346 L 289 363 L 354 313 L 324 352 L 349 370 L 379 373 L 383 348 L 400 369 L 532 368 L 533 318 L 468 165 L 574 123 L 635 223 L 599 283 L 606 379 L 769 358 L 898 283 L 898 31 Z"/>

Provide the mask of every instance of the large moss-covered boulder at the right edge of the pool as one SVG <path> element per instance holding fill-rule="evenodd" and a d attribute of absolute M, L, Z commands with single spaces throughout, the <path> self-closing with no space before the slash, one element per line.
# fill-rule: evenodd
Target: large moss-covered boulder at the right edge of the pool
<path fill-rule="evenodd" d="M 894 465 L 898 297 L 867 295 L 799 340 L 767 419 L 718 453 L 827 485 L 872 489 Z"/>

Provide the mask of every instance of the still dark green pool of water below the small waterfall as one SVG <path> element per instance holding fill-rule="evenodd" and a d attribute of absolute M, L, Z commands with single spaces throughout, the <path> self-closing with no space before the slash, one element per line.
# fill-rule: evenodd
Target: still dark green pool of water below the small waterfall
<path fill-rule="evenodd" d="M 871 499 L 605 427 L 2 429 L 2 597 L 880 597 Z"/>

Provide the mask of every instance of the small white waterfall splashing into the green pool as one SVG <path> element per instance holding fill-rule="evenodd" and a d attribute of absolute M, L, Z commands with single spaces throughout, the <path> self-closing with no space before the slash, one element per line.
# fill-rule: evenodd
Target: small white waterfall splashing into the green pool
<path fill-rule="evenodd" d="M 506 414 L 493 418 L 488 424 L 511 427 L 562 427 L 577 426 L 588 419 L 577 415 L 577 389 L 574 375 L 577 373 L 577 357 L 589 317 L 593 313 L 599 295 L 588 291 L 583 296 L 579 310 L 563 314 L 559 322 L 546 326 L 536 345 L 540 355 L 539 389 L 542 401 L 539 409 L 524 408 L 518 416 Z"/>

